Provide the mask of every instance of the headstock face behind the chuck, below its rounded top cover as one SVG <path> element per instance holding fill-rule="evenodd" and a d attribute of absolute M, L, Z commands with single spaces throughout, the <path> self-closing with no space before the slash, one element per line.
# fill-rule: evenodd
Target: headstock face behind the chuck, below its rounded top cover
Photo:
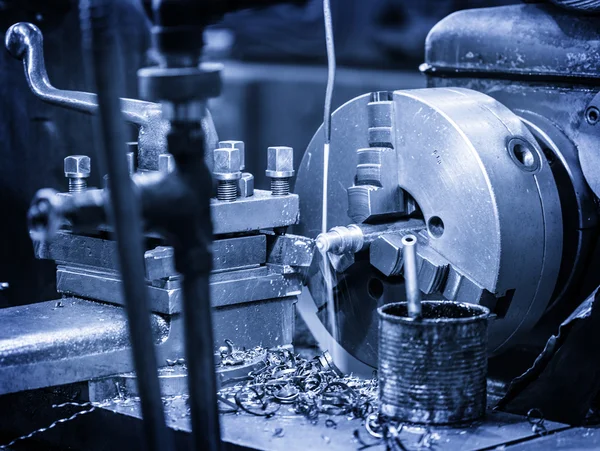
<path fill-rule="evenodd" d="M 537 25 L 531 23 L 532 27 Z M 451 36 L 448 39 L 452 40 Z M 587 163 L 592 163 L 590 169 L 595 167 L 594 159 L 588 160 L 588 157 L 595 156 L 596 135 L 600 129 L 589 126 L 584 113 L 596 90 L 585 86 L 565 90 L 560 85 L 532 85 L 526 80 L 435 77 L 433 74 L 429 76 L 429 84 L 460 86 L 494 97 L 513 110 L 540 143 L 559 188 L 562 209 L 564 245 L 552 303 L 557 307 L 575 308 L 600 283 L 598 275 L 585 265 L 594 252 L 592 242 L 598 226 L 595 195 L 590 189 L 590 185 L 596 183 L 590 177 L 595 177 L 597 171 L 587 171 L 585 176 L 582 171 Z"/>

